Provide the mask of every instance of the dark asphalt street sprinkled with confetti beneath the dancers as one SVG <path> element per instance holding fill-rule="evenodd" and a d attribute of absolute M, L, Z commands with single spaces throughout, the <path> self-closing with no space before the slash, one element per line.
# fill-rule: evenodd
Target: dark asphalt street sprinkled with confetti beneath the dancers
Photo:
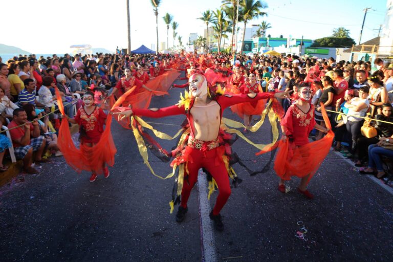
<path fill-rule="evenodd" d="M 154 97 L 151 107 L 176 103 L 181 91 Z M 224 115 L 241 121 L 229 110 Z M 145 118 L 169 135 L 183 120 Z M 224 232 L 216 232 L 201 224 L 206 190 L 194 187 L 186 219 L 176 223 L 177 207 L 170 214 L 168 205 L 173 179 L 149 172 L 130 130 L 114 121 L 112 132 L 118 152 L 108 179 L 90 183 L 90 173 L 77 174 L 60 157 L 0 189 L 0 261 L 208 261 L 206 250 L 218 261 L 393 260 L 393 195 L 332 151 L 309 184 L 313 200 L 296 191 L 296 178 L 283 194 L 273 168 L 250 177 L 236 164 L 243 183 L 222 210 Z M 270 124 L 247 137 L 269 143 Z M 175 141 L 160 143 L 170 149 Z M 256 157 L 258 149 L 241 139 L 233 149 L 252 170 L 270 158 Z M 171 171 L 151 154 L 149 160 L 161 176 Z M 216 195 L 203 204 L 209 210 Z"/>

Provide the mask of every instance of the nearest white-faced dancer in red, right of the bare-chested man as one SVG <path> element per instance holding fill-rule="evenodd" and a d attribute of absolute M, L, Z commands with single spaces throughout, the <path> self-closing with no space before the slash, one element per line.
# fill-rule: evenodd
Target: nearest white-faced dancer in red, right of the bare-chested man
<path fill-rule="evenodd" d="M 298 86 L 298 99 L 289 108 L 281 120 L 282 139 L 278 145 L 274 169 L 280 177 L 278 190 L 285 193 L 285 180 L 297 176 L 301 178 L 298 191 L 312 199 L 314 195 L 307 190 L 307 185 L 328 155 L 334 134 L 330 130 L 329 118 L 324 111 L 325 128 L 315 122 L 314 105 L 310 103 L 311 88 L 307 83 Z M 313 128 L 328 133 L 323 139 L 309 143 L 309 134 Z"/>

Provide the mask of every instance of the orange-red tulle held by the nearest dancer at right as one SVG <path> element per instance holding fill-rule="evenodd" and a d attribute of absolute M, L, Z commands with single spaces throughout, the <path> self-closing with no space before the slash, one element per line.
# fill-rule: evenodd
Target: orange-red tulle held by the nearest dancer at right
<path fill-rule="evenodd" d="M 331 129 L 329 117 L 322 105 L 322 116 L 326 127 Z M 291 177 L 306 177 L 310 174 L 308 182 L 314 176 L 325 157 L 328 155 L 332 145 L 334 133 L 328 132 L 322 139 L 299 147 L 286 140 L 278 143 L 278 152 L 274 163 L 274 170 L 277 176 L 283 180 L 290 180 Z"/>

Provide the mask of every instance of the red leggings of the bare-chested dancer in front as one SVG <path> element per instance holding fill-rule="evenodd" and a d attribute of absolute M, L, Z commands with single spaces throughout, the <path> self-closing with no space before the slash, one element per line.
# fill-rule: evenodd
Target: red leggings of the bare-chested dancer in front
<path fill-rule="evenodd" d="M 183 183 L 181 206 L 184 208 L 187 207 L 187 201 L 190 197 L 191 189 L 198 179 L 198 171 L 200 168 L 204 167 L 210 172 L 219 187 L 219 195 L 217 196 L 217 200 L 213 208 L 213 215 L 217 215 L 220 213 L 225 203 L 227 203 L 229 195 L 231 194 L 228 172 L 224 161 L 222 159 L 217 161 L 217 148 L 205 152 L 194 148 L 191 150 L 190 157 L 192 160 L 187 163 L 189 184 L 186 180 Z M 219 157 L 221 158 L 221 156 Z"/>

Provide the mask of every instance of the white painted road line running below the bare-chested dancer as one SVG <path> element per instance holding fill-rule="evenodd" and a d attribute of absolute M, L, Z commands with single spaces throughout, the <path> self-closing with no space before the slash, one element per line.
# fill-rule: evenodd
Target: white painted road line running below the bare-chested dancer
<path fill-rule="evenodd" d="M 213 226 L 210 221 L 210 205 L 207 200 L 207 180 L 206 174 L 199 172 L 198 176 L 198 198 L 199 198 L 199 220 L 201 230 L 201 245 L 202 245 L 202 261 L 215 262 L 217 259 L 217 252 L 214 245 Z"/>

